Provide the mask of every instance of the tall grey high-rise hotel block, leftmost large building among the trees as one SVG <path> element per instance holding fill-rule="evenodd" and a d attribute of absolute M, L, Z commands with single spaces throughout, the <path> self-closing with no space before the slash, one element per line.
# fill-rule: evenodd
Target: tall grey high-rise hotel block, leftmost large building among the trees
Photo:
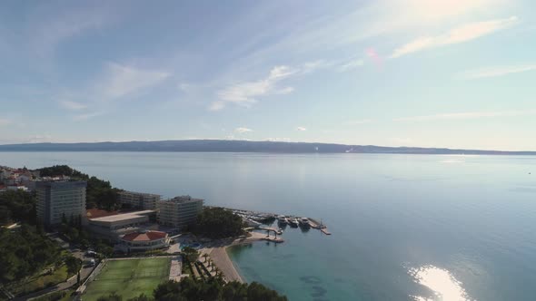
<path fill-rule="evenodd" d="M 58 225 L 65 217 L 85 219 L 85 181 L 37 181 L 37 220 Z"/>

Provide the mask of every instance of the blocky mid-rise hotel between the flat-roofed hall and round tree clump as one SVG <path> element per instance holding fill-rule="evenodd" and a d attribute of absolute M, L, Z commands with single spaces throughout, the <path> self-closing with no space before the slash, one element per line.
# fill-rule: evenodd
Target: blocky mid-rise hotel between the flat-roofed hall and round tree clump
<path fill-rule="evenodd" d="M 193 224 L 203 210 L 203 199 L 192 199 L 190 196 L 163 199 L 156 202 L 156 208 L 160 224 L 184 228 Z"/>

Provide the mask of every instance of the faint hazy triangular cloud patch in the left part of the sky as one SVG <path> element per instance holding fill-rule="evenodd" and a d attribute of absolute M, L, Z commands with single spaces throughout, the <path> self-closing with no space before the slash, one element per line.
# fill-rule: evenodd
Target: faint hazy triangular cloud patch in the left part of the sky
<path fill-rule="evenodd" d="M 97 91 L 104 100 L 114 100 L 126 95 L 140 92 L 162 83 L 170 73 L 135 68 L 119 63 L 108 63 L 106 73 Z"/>

